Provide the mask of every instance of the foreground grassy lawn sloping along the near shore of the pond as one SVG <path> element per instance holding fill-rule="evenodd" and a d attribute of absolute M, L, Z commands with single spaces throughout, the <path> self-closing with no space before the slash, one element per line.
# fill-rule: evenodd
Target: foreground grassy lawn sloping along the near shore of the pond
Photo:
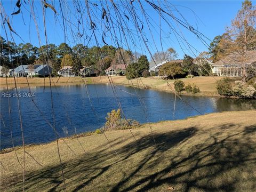
<path fill-rule="evenodd" d="M 231 111 L 60 140 L 67 191 L 256 191 L 256 111 Z M 157 145 L 154 145 L 150 126 Z M 27 147 L 26 191 L 61 191 L 56 142 Z M 17 150 L 22 162 L 22 149 Z M 69 179 L 68 179 L 69 178 Z M 73 180 L 70 180 L 73 179 Z M 1 154 L 2 191 L 22 190 L 14 152 Z"/>

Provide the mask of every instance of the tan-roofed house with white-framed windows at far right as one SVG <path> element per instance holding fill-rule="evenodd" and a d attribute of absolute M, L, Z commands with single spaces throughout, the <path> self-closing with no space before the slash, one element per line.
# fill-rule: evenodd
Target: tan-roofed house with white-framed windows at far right
<path fill-rule="evenodd" d="M 246 51 L 245 55 L 238 52 L 231 53 L 225 58 L 213 63 L 212 73 L 218 76 L 242 76 L 242 65 L 256 65 L 256 50 Z"/>

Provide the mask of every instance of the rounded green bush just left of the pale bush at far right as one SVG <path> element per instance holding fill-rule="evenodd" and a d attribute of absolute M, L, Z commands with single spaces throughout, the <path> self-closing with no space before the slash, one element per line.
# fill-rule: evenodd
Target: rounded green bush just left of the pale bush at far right
<path fill-rule="evenodd" d="M 224 78 L 217 81 L 216 89 L 220 95 L 225 97 L 230 97 L 233 95 L 231 80 L 229 78 Z"/>

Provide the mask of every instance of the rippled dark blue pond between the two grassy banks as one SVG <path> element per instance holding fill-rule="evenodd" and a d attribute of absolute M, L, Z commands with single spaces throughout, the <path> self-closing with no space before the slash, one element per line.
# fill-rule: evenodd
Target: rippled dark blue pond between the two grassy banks
<path fill-rule="evenodd" d="M 182 95 L 186 102 L 177 98 L 173 116 L 175 97 L 172 93 L 108 84 L 87 85 L 87 89 L 84 85 L 56 86 L 52 87 L 52 94 L 50 87 L 30 88 L 31 95 L 28 89 L 18 90 L 26 145 L 55 140 L 49 125 L 53 125 L 53 114 L 59 135 L 65 137 L 102 127 L 107 113 L 117 109 L 118 102 L 125 118 L 140 123 L 184 119 L 199 113 L 256 109 L 255 100 Z M 14 90 L 9 93 L 11 97 L 7 97 L 6 91 L 1 92 L 1 149 L 12 147 L 11 129 L 14 146 L 22 145 L 18 99 Z"/>

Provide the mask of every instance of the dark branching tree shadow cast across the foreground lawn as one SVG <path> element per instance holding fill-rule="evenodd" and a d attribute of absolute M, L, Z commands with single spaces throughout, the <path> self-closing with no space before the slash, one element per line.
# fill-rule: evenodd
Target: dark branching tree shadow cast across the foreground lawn
<path fill-rule="evenodd" d="M 118 148 L 122 160 L 113 151 L 91 151 L 63 164 L 65 176 L 79 181 L 66 179 L 68 191 L 255 191 L 256 129 L 238 128 L 225 124 L 212 132 L 189 127 L 154 134 L 156 146 L 148 135 Z M 46 169 L 29 173 L 25 189 L 63 190 L 60 166 Z M 22 189 L 22 183 L 11 187 Z"/>

